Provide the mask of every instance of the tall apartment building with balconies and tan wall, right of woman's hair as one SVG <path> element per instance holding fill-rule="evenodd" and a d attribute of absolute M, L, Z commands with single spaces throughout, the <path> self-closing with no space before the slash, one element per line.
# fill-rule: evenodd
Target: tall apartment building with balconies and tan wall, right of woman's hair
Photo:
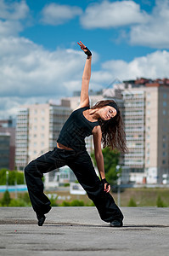
<path fill-rule="evenodd" d="M 123 168 L 133 183 L 164 183 L 169 177 L 169 86 L 165 80 L 128 81 L 121 91 L 129 154 Z"/>

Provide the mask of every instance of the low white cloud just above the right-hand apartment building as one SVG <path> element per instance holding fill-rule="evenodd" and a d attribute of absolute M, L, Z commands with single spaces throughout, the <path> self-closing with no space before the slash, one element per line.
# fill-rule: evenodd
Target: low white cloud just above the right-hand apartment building
<path fill-rule="evenodd" d="M 152 54 L 138 57 L 133 61 L 106 61 L 102 67 L 109 71 L 114 78 L 137 79 L 140 77 L 156 79 L 168 77 L 169 52 L 155 51 Z"/>

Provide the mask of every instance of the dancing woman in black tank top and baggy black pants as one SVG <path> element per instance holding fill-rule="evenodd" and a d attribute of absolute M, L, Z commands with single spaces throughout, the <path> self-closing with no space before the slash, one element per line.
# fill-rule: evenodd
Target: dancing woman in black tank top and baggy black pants
<path fill-rule="evenodd" d="M 53 151 L 31 161 L 25 167 L 25 180 L 34 211 L 37 213 L 38 225 L 45 221 L 45 213 L 49 212 L 50 201 L 43 193 L 43 173 L 53 171 L 61 166 L 69 166 L 88 197 L 99 211 L 100 218 L 112 227 L 121 227 L 123 215 L 110 195 L 110 184 L 104 175 L 104 158 L 101 142 L 104 147 L 119 148 L 127 151 L 125 132 L 121 113 L 114 101 L 98 102 L 89 108 L 88 86 L 91 77 L 92 53 L 87 47 L 78 43 L 87 55 L 83 75 L 81 102 L 79 108 L 70 114 L 60 131 L 57 147 Z M 93 134 L 94 152 L 99 177 L 93 168 L 90 156 L 85 147 L 85 137 Z"/>

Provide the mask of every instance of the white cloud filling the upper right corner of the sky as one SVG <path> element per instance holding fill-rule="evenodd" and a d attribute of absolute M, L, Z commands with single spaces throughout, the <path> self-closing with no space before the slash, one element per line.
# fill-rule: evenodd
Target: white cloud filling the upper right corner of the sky
<path fill-rule="evenodd" d="M 131 44 L 169 48 L 169 0 L 156 1 L 155 9 L 145 24 L 132 26 Z"/>

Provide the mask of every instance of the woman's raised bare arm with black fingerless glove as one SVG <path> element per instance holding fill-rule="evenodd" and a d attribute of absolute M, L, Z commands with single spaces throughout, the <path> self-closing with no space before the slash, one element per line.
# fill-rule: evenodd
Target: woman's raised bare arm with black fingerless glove
<path fill-rule="evenodd" d="M 87 60 L 85 63 L 85 67 L 82 74 L 82 89 L 81 89 L 81 102 L 80 102 L 80 108 L 88 107 L 89 106 L 89 97 L 88 97 L 88 86 L 90 82 L 91 77 L 91 62 L 92 62 L 92 53 L 87 47 L 80 43 L 77 43 L 80 45 L 81 49 L 84 51 L 84 53 L 87 55 Z"/>

